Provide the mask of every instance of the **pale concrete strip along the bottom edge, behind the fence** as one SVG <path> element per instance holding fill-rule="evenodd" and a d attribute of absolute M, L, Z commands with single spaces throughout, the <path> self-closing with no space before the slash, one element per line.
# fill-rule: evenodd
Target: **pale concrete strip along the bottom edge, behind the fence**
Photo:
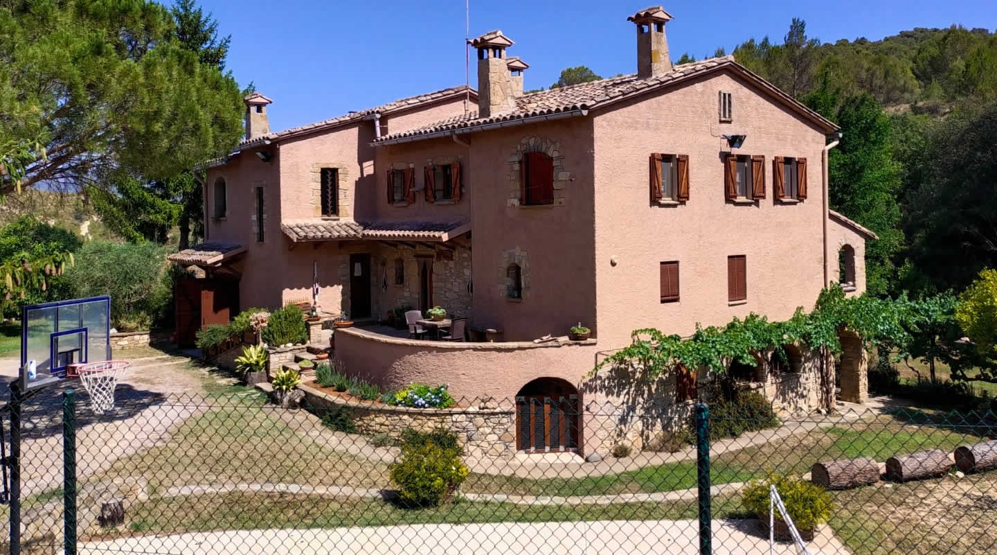
<path fill-rule="evenodd" d="M 80 545 L 81 555 L 156 553 L 168 555 L 695 555 L 695 520 L 609 520 L 595 522 L 500 522 L 418 524 L 309 530 L 240 530 L 139 536 Z M 844 555 L 848 550 L 822 527 L 808 544 L 812 555 Z M 714 520 L 713 553 L 767 555 L 768 534 L 758 520 Z M 794 544 L 780 543 L 774 553 L 796 555 Z"/>

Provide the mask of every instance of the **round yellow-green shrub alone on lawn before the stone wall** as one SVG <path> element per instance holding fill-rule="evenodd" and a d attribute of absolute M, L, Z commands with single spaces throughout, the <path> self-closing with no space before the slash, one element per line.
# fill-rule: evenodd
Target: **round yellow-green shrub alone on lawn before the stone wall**
<path fill-rule="evenodd" d="M 468 467 L 459 451 L 430 441 L 403 446 L 402 456 L 392 463 L 390 472 L 391 480 L 401 490 L 402 501 L 417 507 L 440 504 L 468 477 Z"/>

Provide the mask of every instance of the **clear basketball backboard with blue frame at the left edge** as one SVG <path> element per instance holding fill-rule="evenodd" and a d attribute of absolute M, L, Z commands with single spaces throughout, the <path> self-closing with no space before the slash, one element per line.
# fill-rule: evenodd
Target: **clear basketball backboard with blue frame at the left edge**
<path fill-rule="evenodd" d="M 111 297 L 74 298 L 23 308 L 22 391 L 64 378 L 69 364 L 110 359 Z"/>

